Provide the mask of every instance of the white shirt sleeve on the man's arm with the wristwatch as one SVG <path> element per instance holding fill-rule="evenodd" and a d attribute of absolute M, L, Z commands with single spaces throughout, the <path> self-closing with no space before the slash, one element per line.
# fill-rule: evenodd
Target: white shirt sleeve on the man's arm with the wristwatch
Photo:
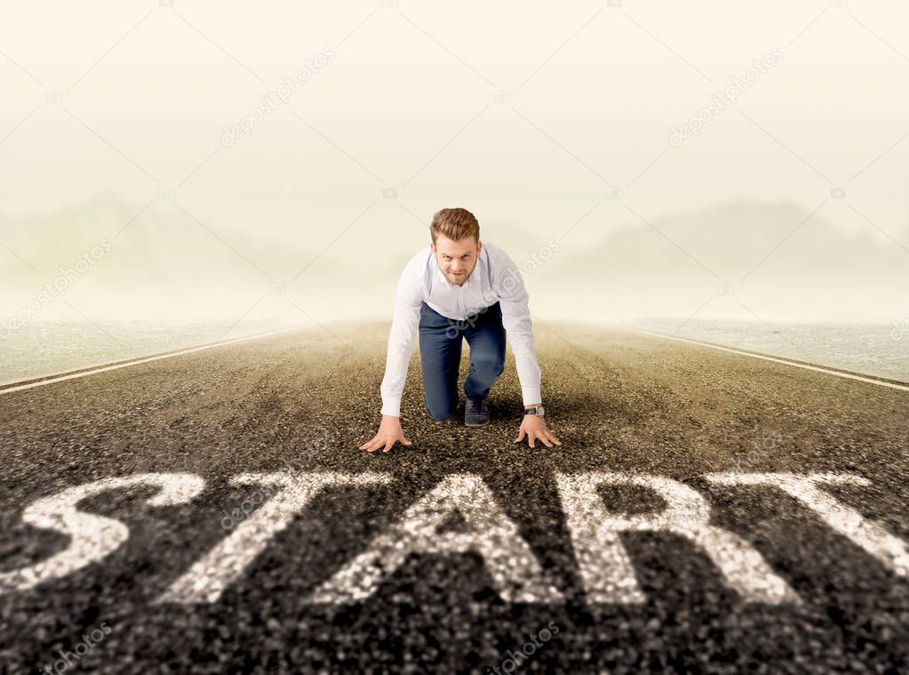
<path fill-rule="evenodd" d="M 521 382 L 524 405 L 542 403 L 540 366 L 536 359 L 534 328 L 530 321 L 529 296 L 524 277 L 503 250 L 490 247 L 491 283 L 502 307 L 502 324 L 514 353 L 517 378 Z"/>

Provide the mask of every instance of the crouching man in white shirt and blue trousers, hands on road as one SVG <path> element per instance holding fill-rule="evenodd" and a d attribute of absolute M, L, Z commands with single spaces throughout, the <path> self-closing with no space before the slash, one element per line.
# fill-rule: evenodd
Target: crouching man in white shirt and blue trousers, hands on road
<path fill-rule="evenodd" d="M 407 263 L 395 293 L 395 316 L 388 337 L 382 380 L 382 423 L 360 446 L 388 452 L 395 442 L 409 446 L 401 428 L 401 394 L 419 327 L 425 409 L 442 421 L 458 404 L 457 377 L 464 338 L 470 346 L 470 373 L 464 380 L 464 424 L 489 422 L 486 398 L 502 374 L 505 331 L 524 398 L 524 418 L 515 442 L 524 436 L 531 448 L 562 445 L 546 428 L 540 396 L 540 367 L 527 307 L 524 279 L 501 248 L 480 242 L 480 225 L 464 208 L 443 208 L 433 217 L 433 243 Z"/>

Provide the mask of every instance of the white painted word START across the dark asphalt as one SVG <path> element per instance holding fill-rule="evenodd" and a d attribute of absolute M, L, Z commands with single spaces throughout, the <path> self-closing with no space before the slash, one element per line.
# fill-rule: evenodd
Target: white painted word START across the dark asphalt
<path fill-rule="evenodd" d="M 704 550 L 746 602 L 800 602 L 748 542 L 711 522 L 704 496 L 677 480 L 637 473 L 555 473 L 566 523 L 586 597 L 591 603 L 640 603 L 644 594 L 620 539 L 623 532 L 659 531 L 681 535 Z M 909 549 L 884 527 L 834 499 L 824 485 L 869 485 L 850 474 L 715 473 L 704 479 L 717 486 L 765 486 L 781 489 L 811 509 L 836 532 L 880 560 L 900 577 L 909 577 Z M 285 529 L 319 493 L 333 486 L 372 486 L 392 482 L 386 473 L 304 473 L 282 471 L 243 474 L 235 486 L 258 486 L 270 497 L 230 535 L 209 550 L 155 601 L 215 602 L 238 579 L 269 539 Z M 662 510 L 646 514 L 610 512 L 597 489 L 603 485 L 637 486 L 664 500 Z M 205 489 L 205 480 L 188 473 L 144 473 L 98 480 L 37 499 L 23 512 L 26 524 L 50 529 L 70 539 L 66 549 L 34 565 L 0 573 L 0 592 L 33 589 L 96 563 L 129 537 L 119 520 L 78 509 L 81 500 L 108 490 L 155 488 L 149 507 L 185 504 Z M 464 528 L 438 533 L 456 511 Z M 451 474 L 405 511 L 315 589 L 310 603 L 344 604 L 369 597 L 385 577 L 412 553 L 479 553 L 502 599 L 513 602 L 559 602 L 562 595 L 545 579 L 543 569 L 517 526 L 496 504 L 479 476 Z"/>

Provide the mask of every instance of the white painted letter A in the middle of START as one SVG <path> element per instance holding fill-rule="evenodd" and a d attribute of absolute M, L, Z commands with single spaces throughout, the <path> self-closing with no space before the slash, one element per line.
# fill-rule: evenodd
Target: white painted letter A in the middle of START
<path fill-rule="evenodd" d="M 453 512 L 465 531 L 437 529 Z M 506 602 L 561 602 L 562 594 L 543 569 L 517 526 L 495 503 L 483 479 L 450 474 L 404 517 L 370 543 L 334 577 L 315 590 L 310 602 L 344 604 L 368 598 L 411 553 L 464 553 L 483 556 L 495 589 Z"/>

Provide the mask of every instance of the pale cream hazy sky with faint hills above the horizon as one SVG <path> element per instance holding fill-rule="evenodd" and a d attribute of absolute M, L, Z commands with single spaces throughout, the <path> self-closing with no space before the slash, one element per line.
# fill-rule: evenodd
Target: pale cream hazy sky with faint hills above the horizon
<path fill-rule="evenodd" d="M 0 315 L 390 318 L 465 207 L 540 317 L 909 317 L 904 3 L 390 4 L 16 5 Z"/>

